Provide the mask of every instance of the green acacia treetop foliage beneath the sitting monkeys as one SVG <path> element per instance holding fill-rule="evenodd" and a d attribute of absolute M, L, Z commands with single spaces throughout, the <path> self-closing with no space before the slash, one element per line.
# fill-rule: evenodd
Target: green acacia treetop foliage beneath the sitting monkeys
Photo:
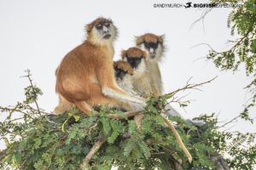
<path fill-rule="evenodd" d="M 31 96 L 30 93 L 35 91 L 26 92 Z M 36 94 L 40 92 L 38 90 Z M 88 169 L 106 170 L 112 166 L 119 169 L 175 169 L 175 162 L 179 162 L 183 169 L 214 169 L 211 158 L 216 154 L 228 155 L 230 167 L 253 169 L 256 163 L 253 134 L 219 131 L 214 114 L 198 117 L 206 122 L 200 128 L 178 116 L 168 117 L 193 156 L 190 164 L 160 116 L 169 97 L 170 94 L 148 99 L 139 129 L 133 118 L 106 107 L 97 108 L 90 116 L 77 109 L 62 115 L 46 114 L 42 110 L 38 113 L 26 100 L 13 108 L 1 107 L 0 110 L 9 116 L 0 123 L 1 139 L 7 144 L 7 149 L 0 154 L 0 168 L 79 169 L 96 141 L 106 139 L 90 160 Z M 14 119 L 14 112 L 22 116 Z M 109 114 L 124 116 L 124 119 L 109 118 Z M 249 148 L 244 148 L 243 144 Z"/>

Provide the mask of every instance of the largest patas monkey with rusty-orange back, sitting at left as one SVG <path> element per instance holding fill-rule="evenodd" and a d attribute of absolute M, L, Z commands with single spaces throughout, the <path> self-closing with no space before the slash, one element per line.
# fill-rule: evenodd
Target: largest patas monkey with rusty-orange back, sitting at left
<path fill-rule="evenodd" d="M 94 105 L 145 106 L 145 101 L 125 93 L 115 82 L 113 41 L 116 27 L 108 19 L 98 18 L 86 26 L 87 40 L 69 52 L 56 71 L 56 92 L 87 113 Z"/>

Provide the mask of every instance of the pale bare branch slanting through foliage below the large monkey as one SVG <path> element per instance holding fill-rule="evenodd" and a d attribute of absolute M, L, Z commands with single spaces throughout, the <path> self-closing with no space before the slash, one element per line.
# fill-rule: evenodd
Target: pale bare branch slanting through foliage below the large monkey
<path fill-rule="evenodd" d="M 85 156 L 83 163 L 81 165 L 81 169 L 88 167 L 91 158 L 96 154 L 98 150 L 100 150 L 102 144 L 104 144 L 105 141 L 106 139 L 99 139 L 98 141 L 96 141 L 96 143 L 90 149 L 89 153 Z"/>

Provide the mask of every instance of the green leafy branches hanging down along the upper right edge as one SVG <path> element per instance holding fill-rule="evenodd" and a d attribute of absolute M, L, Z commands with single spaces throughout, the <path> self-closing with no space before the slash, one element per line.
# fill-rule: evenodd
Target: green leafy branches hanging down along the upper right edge
<path fill-rule="evenodd" d="M 238 118 L 250 121 L 249 110 L 255 106 L 256 99 L 256 1 L 255 0 L 212 0 L 212 3 L 242 4 L 234 8 L 228 17 L 228 27 L 232 36 L 238 35 L 238 40 L 230 41 L 232 47 L 224 52 L 217 52 L 214 49 L 209 51 L 207 59 L 222 70 L 237 71 L 244 66 L 247 77 L 253 80 L 246 88 L 252 94 L 248 99 L 244 111 Z"/>

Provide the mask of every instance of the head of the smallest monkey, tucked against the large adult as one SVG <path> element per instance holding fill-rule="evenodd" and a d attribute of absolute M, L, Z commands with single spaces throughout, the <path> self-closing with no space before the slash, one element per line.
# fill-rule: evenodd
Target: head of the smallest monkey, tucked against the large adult
<path fill-rule="evenodd" d="M 117 82 L 125 81 L 125 79 L 133 75 L 133 69 L 126 61 L 114 61 L 113 62 L 114 75 Z"/>

